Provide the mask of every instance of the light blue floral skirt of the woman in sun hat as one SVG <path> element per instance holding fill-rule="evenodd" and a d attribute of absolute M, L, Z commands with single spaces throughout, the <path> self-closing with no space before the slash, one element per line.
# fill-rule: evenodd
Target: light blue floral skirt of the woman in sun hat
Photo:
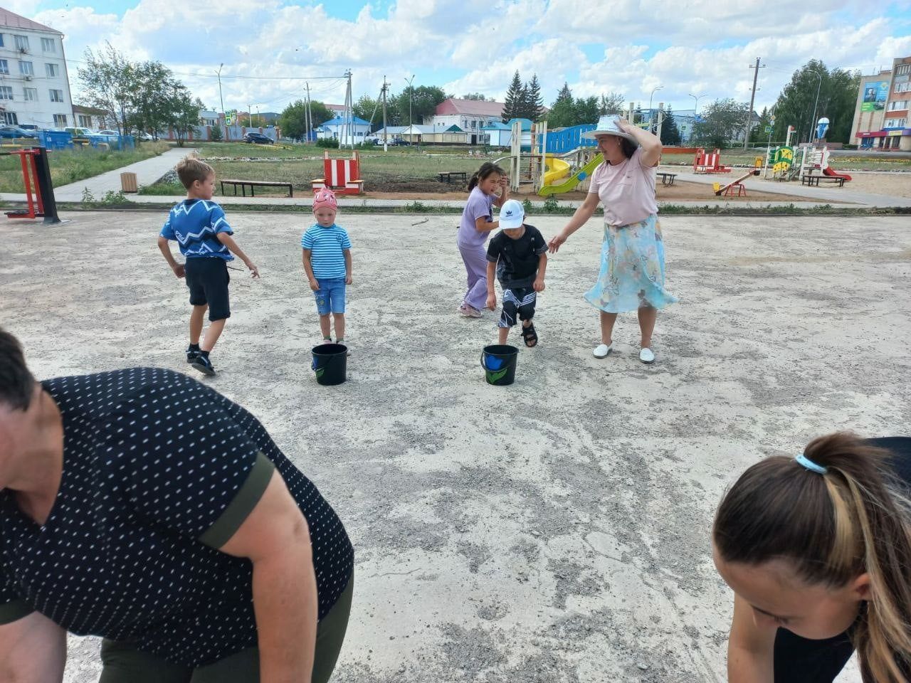
<path fill-rule="evenodd" d="M 601 270 L 585 299 L 607 313 L 663 309 L 677 301 L 664 289 L 664 240 L 655 214 L 619 228 L 605 225 Z"/>

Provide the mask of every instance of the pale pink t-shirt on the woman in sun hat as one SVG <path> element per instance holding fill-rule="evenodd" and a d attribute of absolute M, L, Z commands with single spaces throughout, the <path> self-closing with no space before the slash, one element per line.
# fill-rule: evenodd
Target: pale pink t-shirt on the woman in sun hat
<path fill-rule="evenodd" d="M 598 194 L 609 225 L 630 225 L 658 213 L 657 173 L 657 166 L 642 166 L 642 148 L 617 165 L 605 161 L 595 168 L 589 192 Z"/>

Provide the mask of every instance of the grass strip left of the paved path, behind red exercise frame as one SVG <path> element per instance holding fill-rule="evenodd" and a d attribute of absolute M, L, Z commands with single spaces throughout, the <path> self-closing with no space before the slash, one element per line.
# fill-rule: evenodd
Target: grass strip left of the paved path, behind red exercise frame
<path fill-rule="evenodd" d="M 167 142 L 144 142 L 126 151 L 96 148 L 55 149 L 47 155 L 51 180 L 55 188 L 85 178 L 97 176 L 115 168 L 158 157 L 167 151 Z M 25 192 L 22 184 L 22 164 L 18 157 L 0 157 L 0 192 Z"/>

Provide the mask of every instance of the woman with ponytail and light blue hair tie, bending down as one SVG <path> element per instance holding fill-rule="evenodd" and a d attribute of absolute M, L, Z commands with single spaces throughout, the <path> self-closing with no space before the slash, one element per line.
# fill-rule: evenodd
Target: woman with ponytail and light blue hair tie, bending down
<path fill-rule="evenodd" d="M 911 438 L 814 439 L 752 465 L 715 516 L 731 683 L 911 680 Z"/>

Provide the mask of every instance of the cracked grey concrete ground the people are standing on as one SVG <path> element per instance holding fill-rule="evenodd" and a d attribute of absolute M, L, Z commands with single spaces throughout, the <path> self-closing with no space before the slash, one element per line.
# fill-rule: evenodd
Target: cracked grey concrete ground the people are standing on
<path fill-rule="evenodd" d="M 155 244 L 164 217 L 67 218 L 0 223 L 0 323 L 36 375 L 192 374 L 186 289 Z M 337 387 L 310 370 L 308 216 L 229 218 L 262 279 L 231 271 L 206 382 L 261 418 L 352 536 L 340 683 L 722 681 L 732 596 L 709 529 L 725 488 L 817 434 L 911 423 L 905 218 L 663 219 L 681 302 L 660 314 L 651 366 L 631 314 L 618 350 L 591 355 L 592 221 L 550 259 L 540 346 L 511 387 L 478 365 L 494 315 L 455 315 L 455 217 L 340 215 L 353 355 Z M 564 220 L 529 222 L 549 237 Z M 97 640 L 71 638 L 67 683 L 97 671 Z"/>

